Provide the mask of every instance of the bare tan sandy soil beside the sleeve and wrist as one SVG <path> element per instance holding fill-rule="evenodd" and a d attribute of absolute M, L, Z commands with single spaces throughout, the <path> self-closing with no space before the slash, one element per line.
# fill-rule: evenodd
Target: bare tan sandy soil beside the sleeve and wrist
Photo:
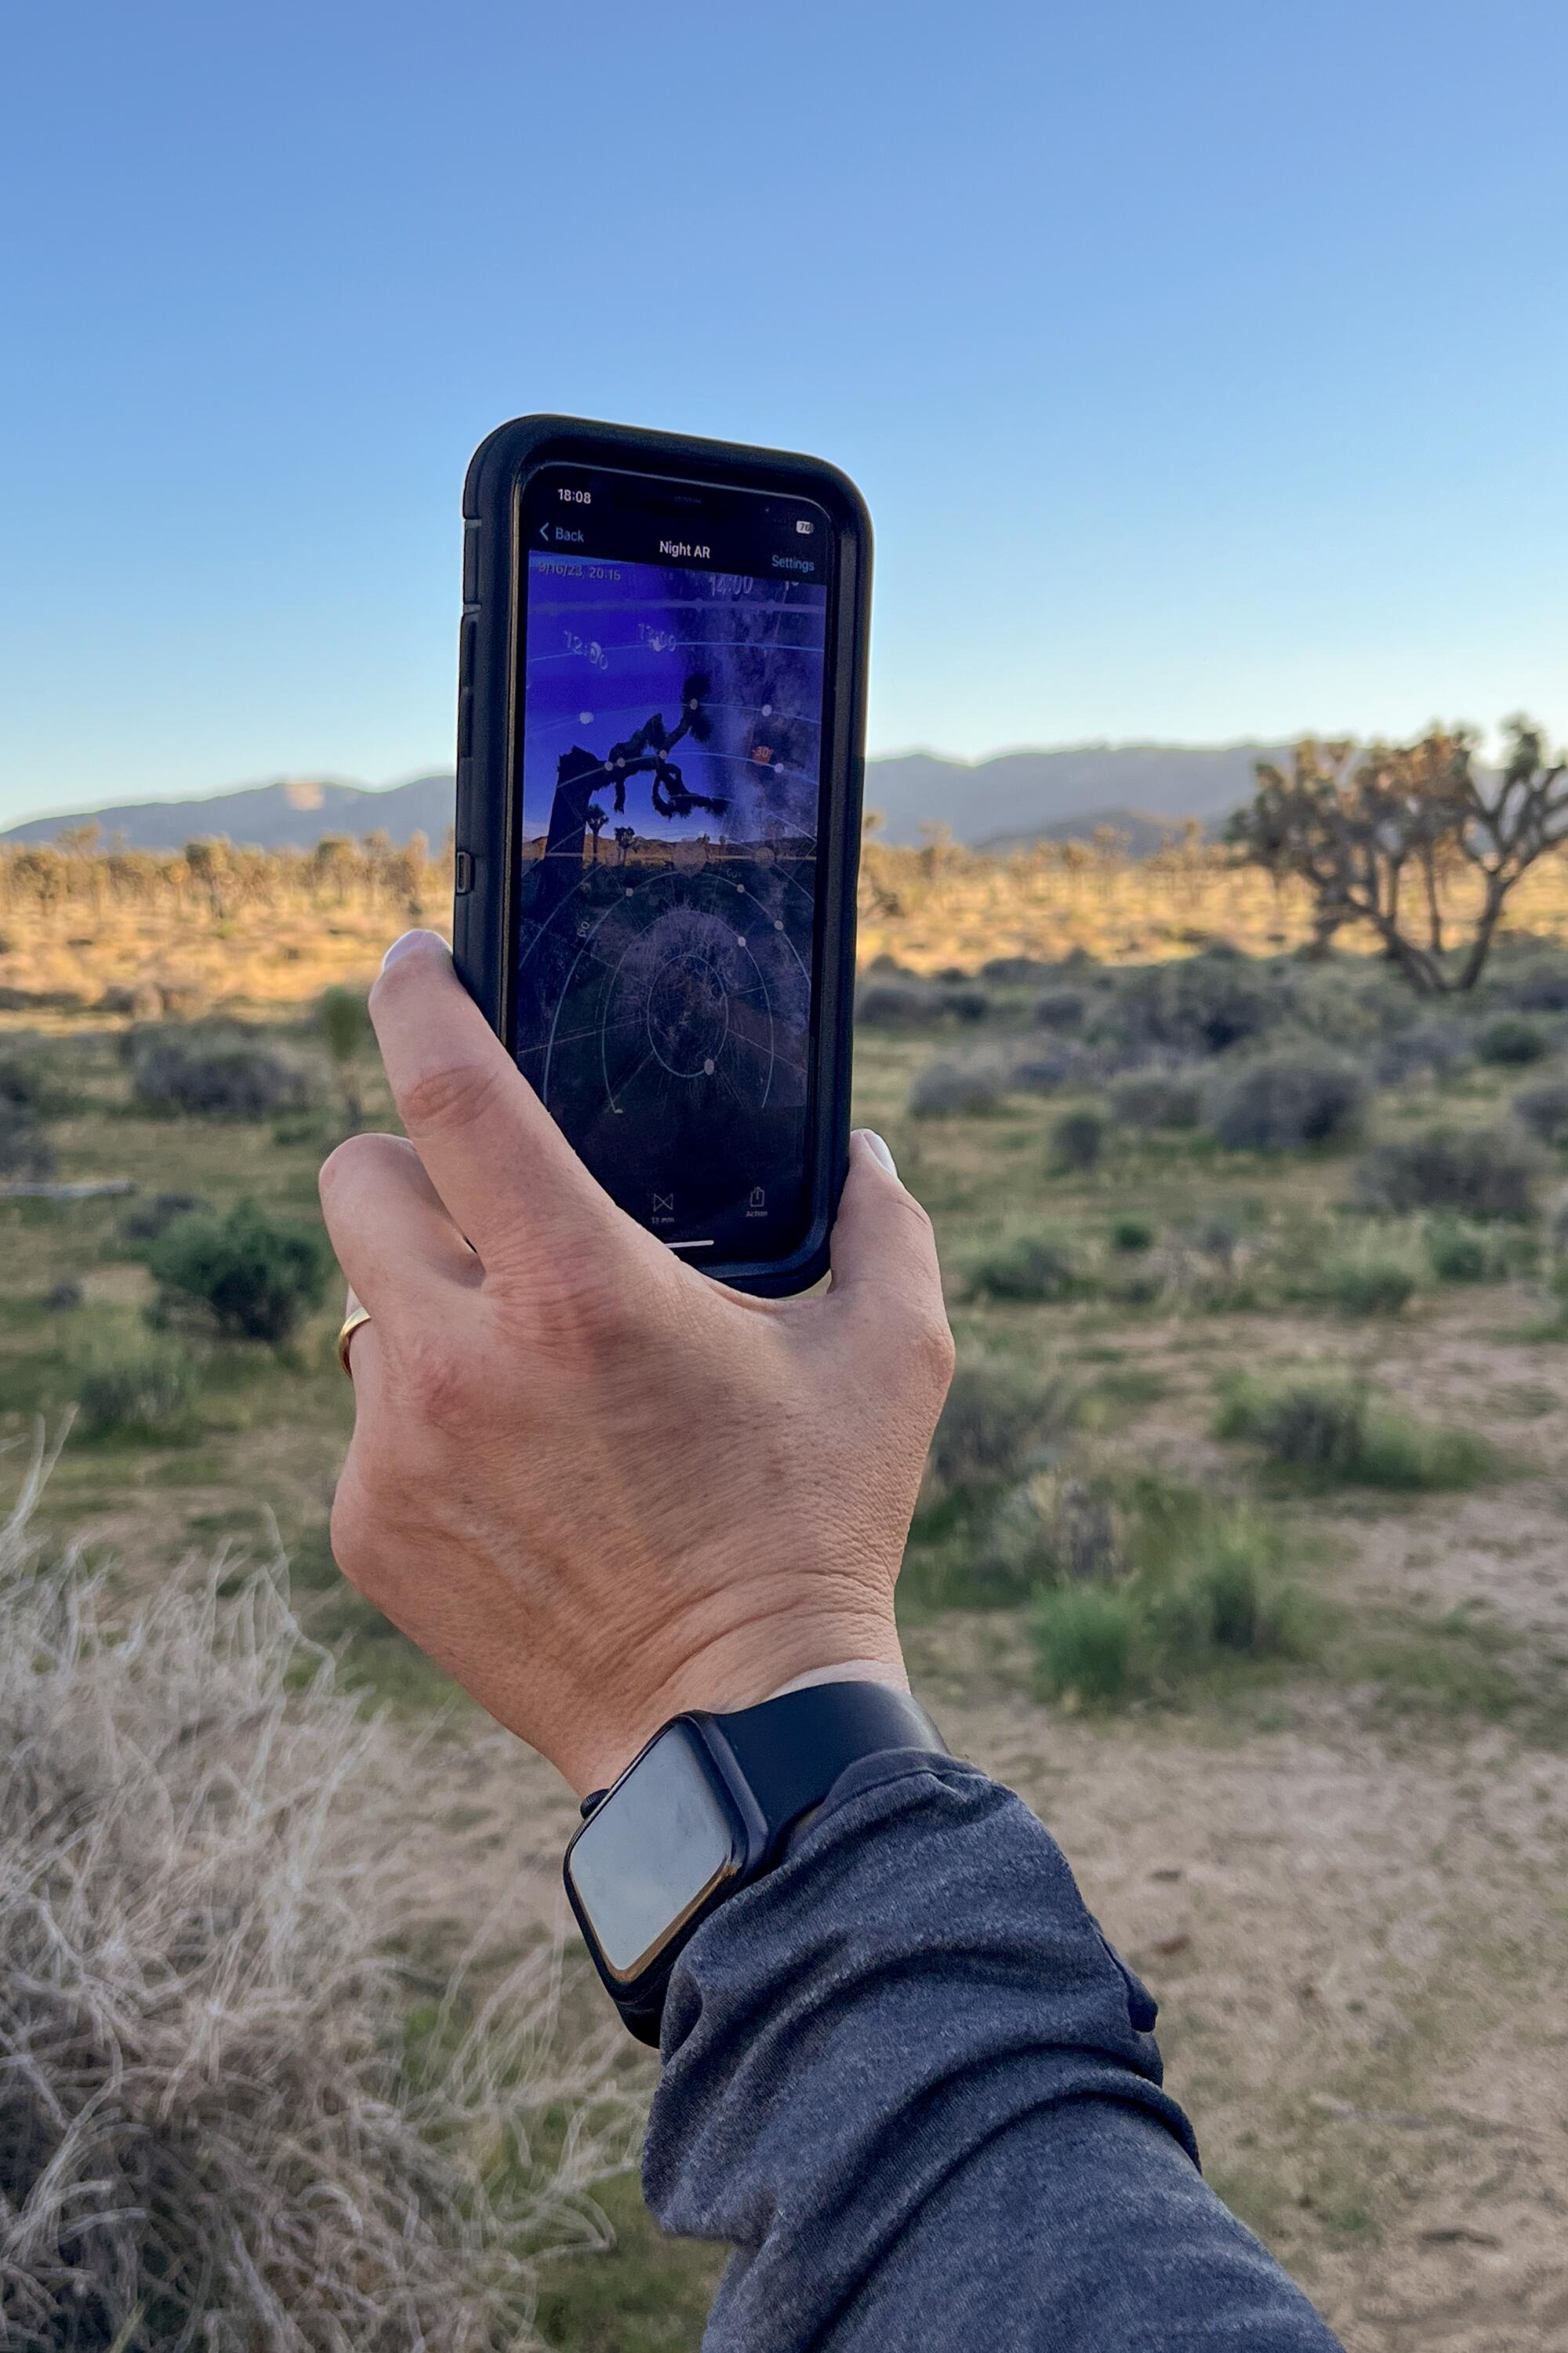
<path fill-rule="evenodd" d="M 1316 1525 L 1345 1600 L 1481 1602 L 1552 1666 L 1568 1647 L 1568 1360 L 1500 1339 L 1486 1313 L 1497 1294 L 1401 1332 L 1382 1379 L 1486 1428 L 1521 1475 Z M 1300 1341 L 1321 1348 L 1324 1327 Z M 1269 1353 L 1288 1348 L 1274 1322 Z M 1194 1421 L 1178 1395 L 1138 1442 L 1192 1464 Z M 926 1621 L 910 1659 L 954 1748 L 1060 1838 L 1159 1995 L 1211 2179 L 1349 2353 L 1561 2353 L 1568 1755 L 1540 1746 L 1542 1720 L 1410 1722 L 1371 1689 L 1293 1678 L 1234 1722 L 1100 1725 L 1030 1697 L 1013 1617 Z M 411 1918 L 473 1929 L 494 1911 L 508 1932 L 557 1915 L 574 1807 L 545 1765 L 482 1729 L 428 1746 L 411 1779 L 430 1826 L 407 1859 Z"/>

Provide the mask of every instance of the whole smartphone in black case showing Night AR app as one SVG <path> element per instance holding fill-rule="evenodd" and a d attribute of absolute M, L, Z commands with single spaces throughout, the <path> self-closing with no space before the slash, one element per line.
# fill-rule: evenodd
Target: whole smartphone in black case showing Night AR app
<path fill-rule="evenodd" d="M 574 416 L 463 492 L 458 972 L 628 1217 L 762 1294 L 849 1155 L 870 546 L 818 459 Z"/>

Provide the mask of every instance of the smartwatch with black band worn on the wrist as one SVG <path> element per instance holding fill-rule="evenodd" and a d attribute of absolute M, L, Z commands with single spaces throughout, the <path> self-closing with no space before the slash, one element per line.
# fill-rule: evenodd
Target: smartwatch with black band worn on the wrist
<path fill-rule="evenodd" d="M 703 1920 L 780 1861 L 849 1765 L 889 1748 L 947 1755 L 907 1692 L 813 1682 L 731 1715 L 675 1715 L 614 1788 L 583 1798 L 567 1901 L 639 2042 L 658 2042 L 670 1972 Z"/>

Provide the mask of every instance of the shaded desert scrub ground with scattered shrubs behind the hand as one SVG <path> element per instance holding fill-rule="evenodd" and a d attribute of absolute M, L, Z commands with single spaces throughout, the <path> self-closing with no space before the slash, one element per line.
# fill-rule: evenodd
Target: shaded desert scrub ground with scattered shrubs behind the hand
<path fill-rule="evenodd" d="M 1213 2179 L 1354 2353 L 1547 2353 L 1568 955 L 1514 941 L 1436 1009 L 1352 955 L 985 962 L 860 995 L 856 1108 L 936 1217 L 959 1334 L 917 1682 L 1060 1835 Z M 183 1555 L 282 1548 L 303 1638 L 388 1711 L 421 1967 L 491 1915 L 494 1969 L 527 1960 L 571 1802 L 327 1555 L 350 1400 L 315 1167 L 388 1115 L 362 1026 L 7 1021 L 19 1181 L 134 1184 L 0 1202 L 5 1459 L 75 1409 L 38 1537 L 85 1544 L 106 1624 Z M 618 2245 L 545 2266 L 543 2339 L 696 2346 L 712 2249 L 663 2245 L 628 2179 L 595 2195 Z"/>

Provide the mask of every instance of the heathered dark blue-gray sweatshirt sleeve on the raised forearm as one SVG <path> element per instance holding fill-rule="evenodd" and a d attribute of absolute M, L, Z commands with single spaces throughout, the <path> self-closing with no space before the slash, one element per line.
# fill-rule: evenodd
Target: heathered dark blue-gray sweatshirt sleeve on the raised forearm
<path fill-rule="evenodd" d="M 705 2353 L 1331 2353 L 1152 2024 L 1011 1791 L 851 1767 L 670 1986 L 644 2191 L 736 2249 Z"/>

